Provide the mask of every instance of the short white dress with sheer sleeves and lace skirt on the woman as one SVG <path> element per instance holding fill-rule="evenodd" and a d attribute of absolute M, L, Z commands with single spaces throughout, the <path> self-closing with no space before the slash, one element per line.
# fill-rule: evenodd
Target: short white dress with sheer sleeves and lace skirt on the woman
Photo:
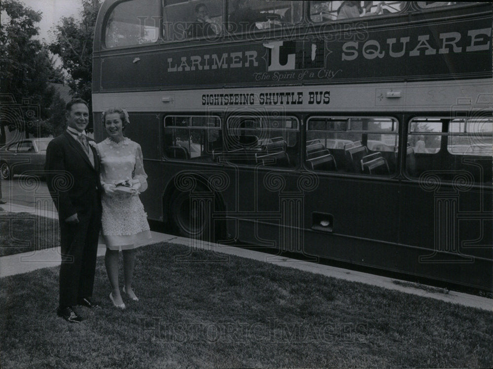
<path fill-rule="evenodd" d="M 107 138 L 97 145 L 97 149 L 101 158 L 102 184 L 112 184 L 129 178 L 139 180 L 139 191 L 143 192 L 147 188 L 147 175 L 139 144 L 129 138 L 118 144 Z M 133 249 L 151 238 L 147 215 L 139 195 L 103 193 L 101 202 L 103 237 L 108 249 Z"/>

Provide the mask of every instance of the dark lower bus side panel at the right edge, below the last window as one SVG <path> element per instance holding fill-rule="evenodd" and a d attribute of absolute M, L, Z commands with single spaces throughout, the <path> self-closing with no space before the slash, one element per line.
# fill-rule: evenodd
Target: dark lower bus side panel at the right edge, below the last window
<path fill-rule="evenodd" d="M 471 286 L 492 290 L 491 188 L 403 184 L 399 243 L 418 247 L 409 264 Z M 489 276 L 489 277 L 488 277 Z"/>

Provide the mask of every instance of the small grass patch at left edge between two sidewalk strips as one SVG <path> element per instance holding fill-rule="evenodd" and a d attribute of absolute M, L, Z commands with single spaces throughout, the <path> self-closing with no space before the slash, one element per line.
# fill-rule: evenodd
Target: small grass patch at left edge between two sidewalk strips
<path fill-rule="evenodd" d="M 0 211 L 0 257 L 60 246 L 58 220 Z"/>

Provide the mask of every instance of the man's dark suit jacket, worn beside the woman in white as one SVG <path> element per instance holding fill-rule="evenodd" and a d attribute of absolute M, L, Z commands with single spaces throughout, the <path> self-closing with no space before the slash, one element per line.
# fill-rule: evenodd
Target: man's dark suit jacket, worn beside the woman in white
<path fill-rule="evenodd" d="M 88 138 L 88 141 L 94 141 Z M 68 133 L 54 138 L 46 149 L 46 184 L 60 221 L 73 214 L 83 215 L 101 204 L 100 160 L 95 148 L 94 167 L 82 146 Z M 101 205 L 100 205 L 101 206 Z"/>

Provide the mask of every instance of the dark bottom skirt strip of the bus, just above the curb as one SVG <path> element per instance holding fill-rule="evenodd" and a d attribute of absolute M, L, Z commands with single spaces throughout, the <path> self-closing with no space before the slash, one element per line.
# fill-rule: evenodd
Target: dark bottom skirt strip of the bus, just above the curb
<path fill-rule="evenodd" d="M 276 224 L 240 221 L 239 228 L 248 238 L 256 233 L 267 239 L 282 243 L 282 233 L 292 230 L 279 228 Z M 331 235 L 317 230 L 305 229 L 297 236 L 304 240 L 303 254 L 348 262 L 351 264 L 385 269 L 396 273 L 412 275 L 417 282 L 427 283 L 428 279 L 456 283 L 483 291 L 493 291 L 493 268 L 491 259 L 476 258 L 464 262 L 460 257 L 450 257 L 448 262 L 420 262 L 420 258 L 432 255 L 410 245 L 390 244 L 373 240 Z M 262 251 L 258 247 L 258 251 Z M 285 248 L 284 251 L 300 252 Z M 309 261 L 317 261 L 317 258 Z"/>

